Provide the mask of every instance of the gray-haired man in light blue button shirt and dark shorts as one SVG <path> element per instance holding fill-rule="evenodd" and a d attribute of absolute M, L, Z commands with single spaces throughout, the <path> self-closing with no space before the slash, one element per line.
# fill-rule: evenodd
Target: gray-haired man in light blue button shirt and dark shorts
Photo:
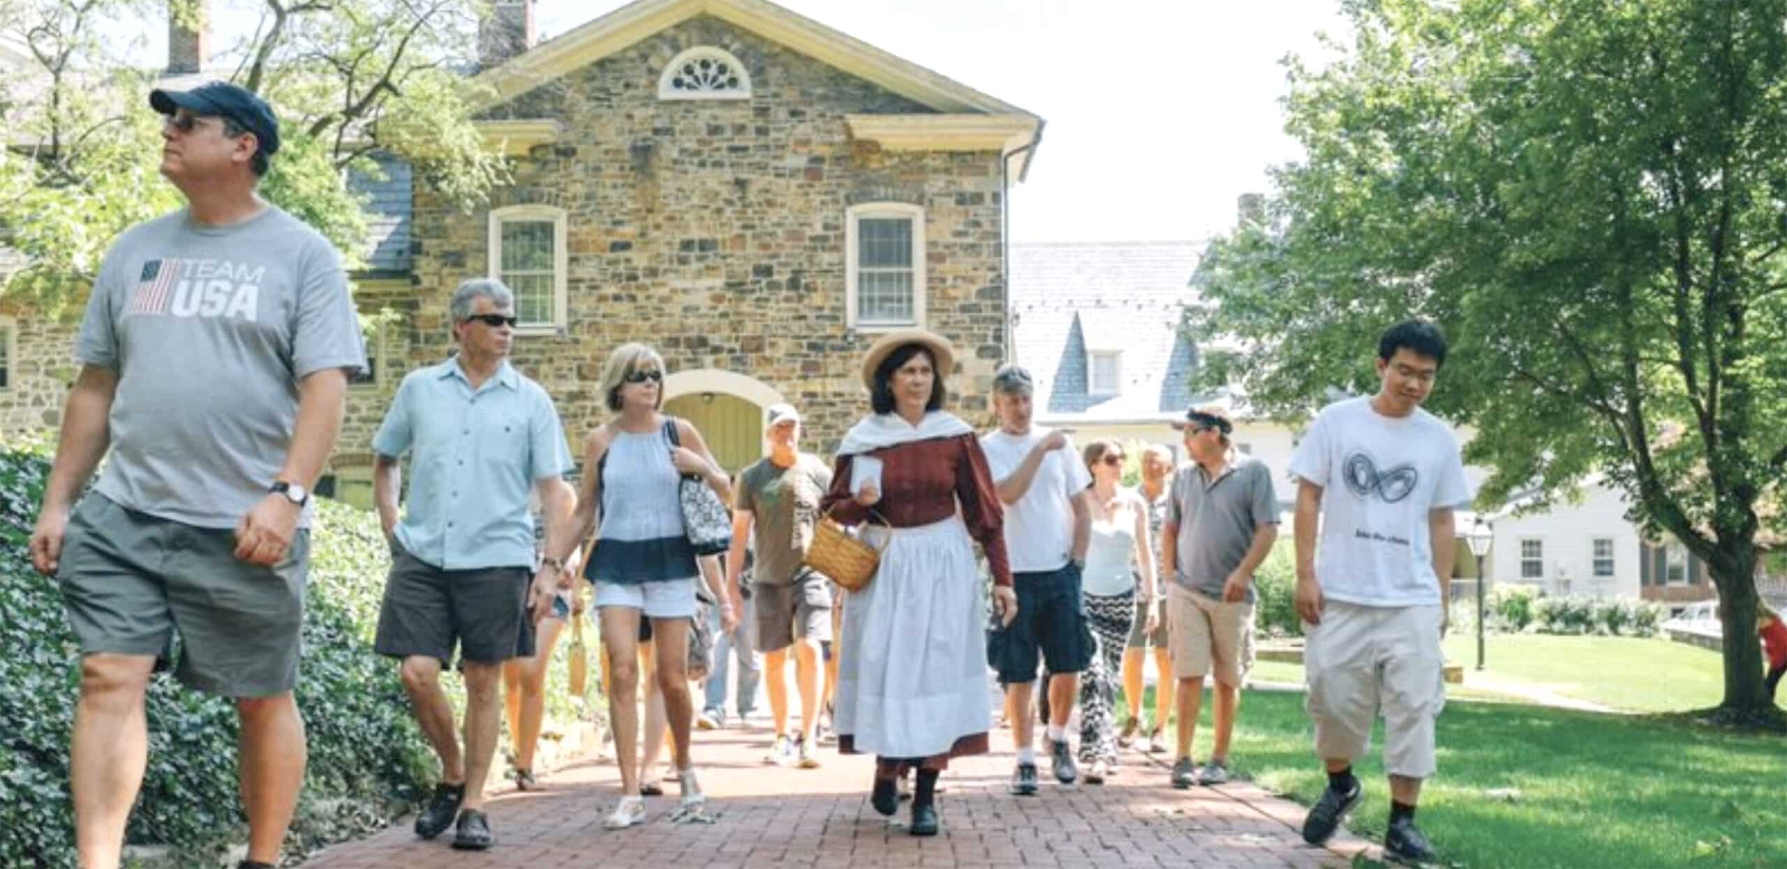
<path fill-rule="evenodd" d="M 372 439 L 373 500 L 391 542 L 391 575 L 375 651 L 402 660 L 399 675 L 416 721 L 441 762 L 441 782 L 416 815 L 434 839 L 457 817 L 452 846 L 495 844 L 484 805 L 502 721 L 502 662 L 534 653 L 534 623 L 561 587 L 565 564 L 536 569 L 529 491 L 538 492 L 545 551 L 561 551 L 575 494 L 565 428 L 552 398 L 509 364 L 515 296 L 491 278 L 452 294 L 459 353 L 411 371 Z M 415 478 L 399 521 L 399 459 Z M 465 751 L 440 673 L 454 651 L 465 671 Z"/>

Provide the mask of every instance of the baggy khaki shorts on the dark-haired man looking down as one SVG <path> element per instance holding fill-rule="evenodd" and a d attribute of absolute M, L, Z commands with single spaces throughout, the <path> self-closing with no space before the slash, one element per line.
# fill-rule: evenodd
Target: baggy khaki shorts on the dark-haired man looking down
<path fill-rule="evenodd" d="M 1440 608 L 1328 601 L 1322 623 L 1305 625 L 1303 637 L 1315 753 L 1358 760 L 1381 712 L 1383 771 L 1431 776 L 1433 721 L 1446 707 Z"/>

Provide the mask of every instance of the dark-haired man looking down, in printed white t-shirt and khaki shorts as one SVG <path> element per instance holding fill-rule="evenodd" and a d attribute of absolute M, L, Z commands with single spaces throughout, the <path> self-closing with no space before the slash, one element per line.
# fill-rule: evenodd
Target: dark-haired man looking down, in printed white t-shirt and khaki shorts
<path fill-rule="evenodd" d="M 1412 319 L 1378 339 L 1376 396 L 1322 409 L 1297 444 L 1297 614 L 1315 751 L 1328 789 L 1303 821 L 1326 842 L 1362 796 L 1353 762 L 1383 714 L 1392 860 L 1433 858 L 1415 828 L 1433 774 L 1433 721 L 1446 703 L 1440 637 L 1451 578 L 1453 509 L 1471 501 L 1458 441 L 1421 409 L 1446 362 L 1446 335 Z M 1317 519 L 1321 519 L 1317 542 Z"/>

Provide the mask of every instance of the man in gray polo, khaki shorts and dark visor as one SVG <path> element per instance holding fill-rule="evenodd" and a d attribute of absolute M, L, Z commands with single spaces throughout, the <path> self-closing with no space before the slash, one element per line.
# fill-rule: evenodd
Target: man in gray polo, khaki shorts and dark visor
<path fill-rule="evenodd" d="M 1253 571 L 1278 539 L 1278 496 L 1272 471 L 1256 459 L 1235 462 L 1235 425 L 1215 405 L 1185 414 L 1192 457 L 1172 476 L 1167 521 L 1160 530 L 1160 569 L 1167 591 L 1167 642 L 1179 680 L 1179 753 L 1172 787 L 1228 782 L 1229 735 L 1240 705 L 1240 680 L 1253 667 Z M 1192 730 L 1204 701 L 1204 675 L 1215 673 L 1215 748 L 1196 769 Z"/>

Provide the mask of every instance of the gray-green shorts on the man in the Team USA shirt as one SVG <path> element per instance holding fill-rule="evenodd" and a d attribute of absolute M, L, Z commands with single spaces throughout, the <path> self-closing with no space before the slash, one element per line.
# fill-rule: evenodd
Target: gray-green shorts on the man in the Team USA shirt
<path fill-rule="evenodd" d="M 236 559 L 236 532 L 197 528 L 89 492 L 68 519 L 55 578 L 82 655 L 152 655 L 225 698 L 268 698 L 298 683 L 298 630 L 311 535 L 284 560 Z"/>

